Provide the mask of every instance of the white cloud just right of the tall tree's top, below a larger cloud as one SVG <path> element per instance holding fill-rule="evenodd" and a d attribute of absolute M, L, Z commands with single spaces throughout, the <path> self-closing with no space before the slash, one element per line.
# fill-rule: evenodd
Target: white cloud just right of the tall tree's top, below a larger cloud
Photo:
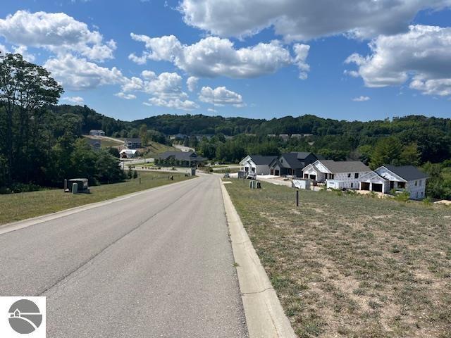
<path fill-rule="evenodd" d="M 50 58 L 44 63 L 51 75 L 60 82 L 64 89 L 84 90 L 94 89 L 106 84 L 123 84 L 127 79 L 118 68 L 104 68 L 87 61 L 66 54 L 60 58 Z"/>

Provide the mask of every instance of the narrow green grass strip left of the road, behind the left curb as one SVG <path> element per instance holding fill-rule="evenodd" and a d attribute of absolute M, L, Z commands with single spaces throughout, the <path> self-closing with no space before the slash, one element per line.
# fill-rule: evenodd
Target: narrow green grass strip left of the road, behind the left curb
<path fill-rule="evenodd" d="M 182 173 L 171 173 L 174 180 L 168 181 L 168 175 L 169 173 L 161 172 L 140 173 L 141 184 L 139 178 L 116 184 L 104 184 L 90 187 L 91 194 L 73 195 L 63 192 L 63 189 L 51 189 L 0 195 L 0 225 L 190 179 Z"/>

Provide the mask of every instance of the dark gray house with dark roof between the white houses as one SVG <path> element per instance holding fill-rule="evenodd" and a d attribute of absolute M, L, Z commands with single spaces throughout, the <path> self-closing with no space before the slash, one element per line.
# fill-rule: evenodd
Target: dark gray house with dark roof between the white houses
<path fill-rule="evenodd" d="M 309 152 L 291 152 L 275 158 L 269 165 L 271 175 L 302 177 L 302 169 L 318 160 L 318 156 Z"/>

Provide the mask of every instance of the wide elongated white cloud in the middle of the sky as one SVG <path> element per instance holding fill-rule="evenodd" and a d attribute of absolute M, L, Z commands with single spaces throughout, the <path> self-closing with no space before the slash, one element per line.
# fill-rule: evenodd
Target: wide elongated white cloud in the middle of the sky
<path fill-rule="evenodd" d="M 293 58 L 290 51 L 276 40 L 235 49 L 229 39 L 218 37 L 206 37 L 189 46 L 181 44 L 173 35 L 152 38 L 132 33 L 131 37 L 144 42 L 146 50 L 142 56 L 130 54 L 130 60 L 140 64 L 147 60 L 169 61 L 195 77 L 258 77 L 293 64 L 302 74 L 308 70 L 305 63 L 309 50 L 307 45 L 296 45 Z"/>

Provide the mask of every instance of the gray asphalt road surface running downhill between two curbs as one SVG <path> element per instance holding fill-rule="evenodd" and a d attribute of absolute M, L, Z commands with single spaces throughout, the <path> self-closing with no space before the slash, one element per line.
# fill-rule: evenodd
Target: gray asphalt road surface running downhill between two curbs
<path fill-rule="evenodd" d="M 216 175 L 2 234 L 0 271 L 47 337 L 247 337 Z"/>

